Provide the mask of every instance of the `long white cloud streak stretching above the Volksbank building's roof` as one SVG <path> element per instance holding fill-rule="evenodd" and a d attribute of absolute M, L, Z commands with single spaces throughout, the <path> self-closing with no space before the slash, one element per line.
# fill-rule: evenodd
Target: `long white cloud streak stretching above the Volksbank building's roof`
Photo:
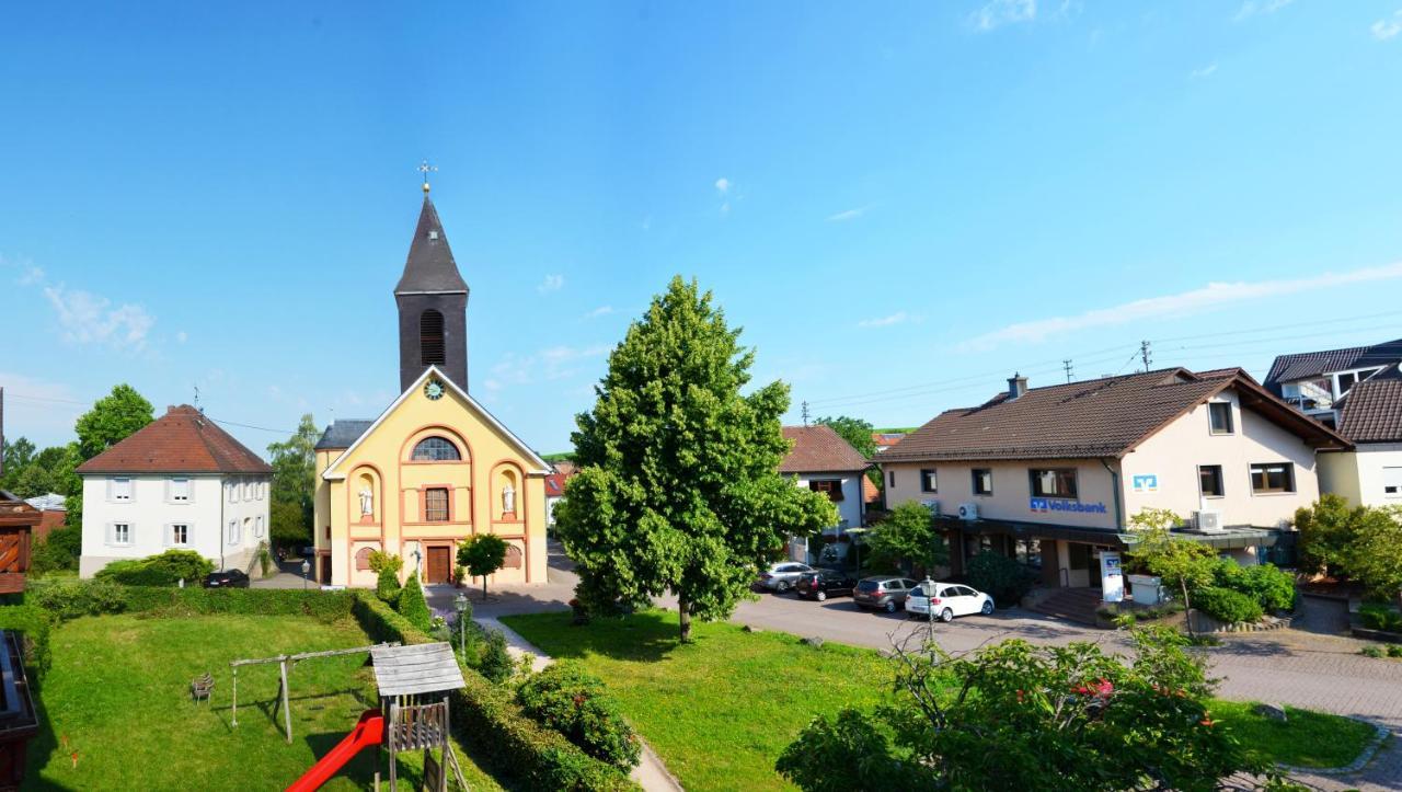
<path fill-rule="evenodd" d="M 965 341 L 960 348 L 966 352 L 984 352 L 1001 343 L 1036 343 L 1056 335 L 1081 329 L 1123 325 L 1165 317 L 1182 317 L 1220 308 L 1232 303 L 1260 300 L 1263 297 L 1280 297 L 1284 294 L 1298 294 L 1301 292 L 1314 292 L 1318 289 L 1346 286 L 1350 283 L 1396 279 L 1402 279 L 1402 262 L 1385 266 L 1368 266 L 1350 272 L 1329 272 L 1314 278 L 1298 278 L 1293 280 L 1209 283 L 1202 289 L 1193 289 L 1190 292 L 1165 294 L 1162 297 L 1145 297 L 1143 300 L 1133 300 L 1109 308 L 1089 310 L 1071 317 L 1053 317 L 1011 324 L 1001 329 L 970 338 L 969 341 Z"/>

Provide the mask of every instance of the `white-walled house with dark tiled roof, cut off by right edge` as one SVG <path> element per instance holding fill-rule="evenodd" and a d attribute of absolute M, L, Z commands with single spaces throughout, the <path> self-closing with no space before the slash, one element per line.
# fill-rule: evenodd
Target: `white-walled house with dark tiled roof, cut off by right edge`
<path fill-rule="evenodd" d="M 1354 384 L 1336 409 L 1353 449 L 1319 454 L 1321 486 L 1354 506 L 1402 506 L 1402 370 Z"/>

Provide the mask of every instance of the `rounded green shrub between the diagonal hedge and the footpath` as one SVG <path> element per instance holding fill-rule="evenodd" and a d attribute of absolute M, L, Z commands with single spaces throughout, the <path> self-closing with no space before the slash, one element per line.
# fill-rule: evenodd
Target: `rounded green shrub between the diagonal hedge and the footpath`
<path fill-rule="evenodd" d="M 573 662 L 559 662 L 516 691 L 522 709 L 585 750 L 621 770 L 638 765 L 642 749 L 604 690 L 603 680 Z"/>

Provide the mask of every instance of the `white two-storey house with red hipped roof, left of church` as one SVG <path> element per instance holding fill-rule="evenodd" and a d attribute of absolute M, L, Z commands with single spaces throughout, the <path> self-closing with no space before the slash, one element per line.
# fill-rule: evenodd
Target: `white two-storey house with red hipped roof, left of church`
<path fill-rule="evenodd" d="M 83 578 L 172 548 L 247 571 L 268 538 L 272 468 L 193 407 L 168 408 L 77 472 Z"/>

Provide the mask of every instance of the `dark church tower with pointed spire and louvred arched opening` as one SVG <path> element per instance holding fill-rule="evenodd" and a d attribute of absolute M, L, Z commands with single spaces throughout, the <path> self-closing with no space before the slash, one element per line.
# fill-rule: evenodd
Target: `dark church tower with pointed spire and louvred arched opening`
<path fill-rule="evenodd" d="M 428 182 L 394 303 L 400 307 L 400 392 L 429 366 L 465 391 L 467 282 L 457 272 Z"/>

